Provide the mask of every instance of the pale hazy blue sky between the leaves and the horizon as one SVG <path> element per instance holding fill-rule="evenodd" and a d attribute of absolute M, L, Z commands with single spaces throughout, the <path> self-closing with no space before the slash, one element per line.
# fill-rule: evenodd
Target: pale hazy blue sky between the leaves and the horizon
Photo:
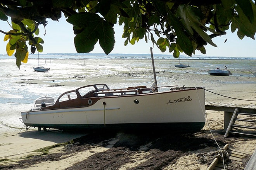
<path fill-rule="evenodd" d="M 44 28 L 40 25 L 40 34 L 44 40 L 43 45 L 43 54 L 47 53 L 77 53 L 74 47 L 74 33 L 73 26 L 66 22 L 65 17 L 62 15 L 62 18 L 57 21 L 52 21 L 47 19 L 48 24 L 46 26 L 46 35 Z M 2 31 L 8 32 L 10 26 L 7 22 L 0 20 L 0 29 Z M 139 42 L 136 42 L 135 45 L 130 43 L 125 46 L 125 39 L 122 38 L 123 26 L 114 26 L 115 31 L 115 45 L 111 54 L 120 53 L 120 54 L 150 54 L 150 47 L 153 48 L 154 54 L 166 54 L 172 56 L 172 53 L 169 53 L 168 50 L 162 53 L 158 48 L 152 45 L 151 41 L 146 43 L 144 39 L 141 39 Z M 5 35 L 0 32 L 0 54 L 6 54 L 6 44 L 7 41 L 3 41 Z M 224 43 L 225 39 L 227 42 Z M 205 46 L 206 54 L 202 54 L 200 51 L 195 51 L 195 55 L 201 56 L 224 56 L 224 57 L 256 57 L 256 41 L 244 37 L 242 40 L 237 37 L 236 31 L 232 33 L 227 31 L 226 35 L 218 36 L 212 39 L 212 41 L 218 46 L 213 47 L 210 44 Z M 99 43 L 95 45 L 95 48 L 91 53 L 104 53 L 100 48 Z M 185 53 L 182 53 L 185 55 Z M 194 54 L 192 54 L 193 56 Z"/>

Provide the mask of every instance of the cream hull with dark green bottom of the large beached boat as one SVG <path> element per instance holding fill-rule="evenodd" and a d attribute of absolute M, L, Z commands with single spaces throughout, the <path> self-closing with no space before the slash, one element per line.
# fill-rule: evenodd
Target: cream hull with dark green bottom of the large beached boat
<path fill-rule="evenodd" d="M 100 97 L 88 107 L 21 112 L 26 126 L 39 128 L 161 128 L 186 133 L 200 131 L 205 123 L 204 115 L 203 88 Z"/>

